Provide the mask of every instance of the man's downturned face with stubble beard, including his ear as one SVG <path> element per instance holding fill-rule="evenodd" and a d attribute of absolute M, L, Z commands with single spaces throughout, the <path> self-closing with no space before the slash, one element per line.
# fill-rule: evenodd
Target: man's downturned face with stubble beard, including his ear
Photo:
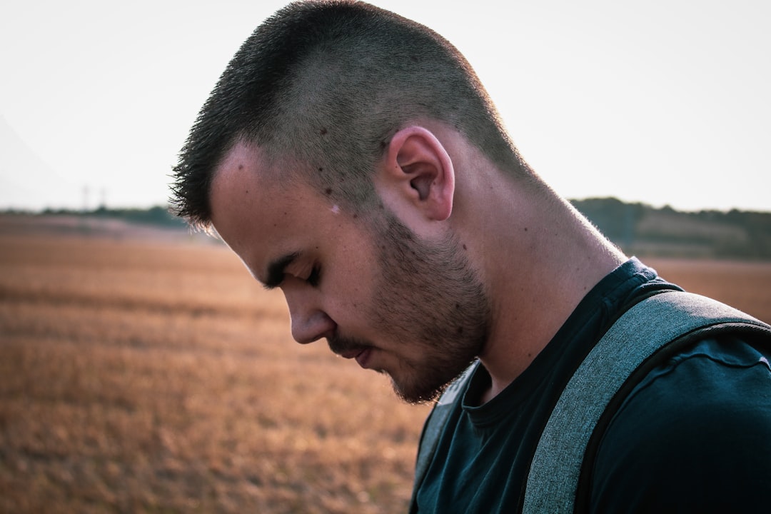
<path fill-rule="evenodd" d="M 392 191 L 365 222 L 308 183 L 275 180 L 264 152 L 238 143 L 212 184 L 212 223 L 258 281 L 281 288 L 296 341 L 326 338 L 387 373 L 402 398 L 426 401 L 480 354 L 491 306 L 466 245 L 443 228 L 452 163 L 425 129 L 393 139 L 389 162 L 396 153 L 417 170 L 380 166 L 378 189 Z M 419 237 L 392 210 L 439 228 Z"/>

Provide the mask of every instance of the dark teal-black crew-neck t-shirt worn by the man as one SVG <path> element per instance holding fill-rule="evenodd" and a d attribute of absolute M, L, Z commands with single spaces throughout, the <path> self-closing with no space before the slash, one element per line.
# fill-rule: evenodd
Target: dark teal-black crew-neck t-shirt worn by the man
<path fill-rule="evenodd" d="M 540 433 L 564 385 L 628 305 L 667 289 L 678 287 L 628 260 L 584 297 L 515 381 L 480 406 L 476 400 L 490 375 L 476 368 L 417 492 L 419 512 L 518 512 Z M 765 507 L 771 492 L 769 358 L 743 341 L 708 340 L 651 372 L 598 447 L 588 512 Z"/>

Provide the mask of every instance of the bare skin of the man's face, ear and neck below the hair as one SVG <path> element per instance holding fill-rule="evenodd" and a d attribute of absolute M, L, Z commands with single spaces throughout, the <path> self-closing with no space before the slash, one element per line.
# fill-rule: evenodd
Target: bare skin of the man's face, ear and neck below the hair
<path fill-rule="evenodd" d="M 239 143 L 227 153 L 210 196 L 217 233 L 255 278 L 284 292 L 296 341 L 327 338 L 343 357 L 385 371 L 410 401 L 430 397 L 437 381 L 450 380 L 475 356 L 491 377 L 479 401 L 497 395 L 588 289 L 625 260 L 566 204 L 517 186 L 463 136 L 423 120 L 396 133 L 373 170 L 384 213 L 371 218 L 392 213 L 426 250 L 419 253 L 444 248 L 442 259 L 466 277 L 439 281 L 399 316 L 390 315 L 389 307 L 406 303 L 400 298 L 418 294 L 420 277 L 438 281 L 448 265 L 429 259 L 419 277 L 401 280 L 392 264 L 386 284 L 382 248 L 393 245 L 387 225 L 373 230 L 371 220 L 301 180 L 279 181 L 274 172 L 256 146 Z M 460 291 L 464 281 L 473 285 Z M 389 287 L 396 291 L 390 304 L 378 304 Z M 453 308 L 466 317 L 453 317 Z M 422 375 L 436 368 L 446 374 L 423 383 Z"/>

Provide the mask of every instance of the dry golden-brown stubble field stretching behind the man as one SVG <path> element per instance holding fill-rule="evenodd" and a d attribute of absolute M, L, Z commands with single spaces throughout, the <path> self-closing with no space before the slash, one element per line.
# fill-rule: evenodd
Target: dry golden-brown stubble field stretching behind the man
<path fill-rule="evenodd" d="M 20 223 L 0 217 L 0 512 L 405 510 L 428 408 L 291 341 L 226 248 Z M 771 320 L 771 263 L 649 262 Z"/>

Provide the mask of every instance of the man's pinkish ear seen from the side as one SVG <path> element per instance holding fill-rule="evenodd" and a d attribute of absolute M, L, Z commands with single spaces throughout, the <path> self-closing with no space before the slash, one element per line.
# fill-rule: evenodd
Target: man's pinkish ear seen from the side
<path fill-rule="evenodd" d="M 391 139 L 379 176 L 381 197 L 397 207 L 416 207 L 429 220 L 453 212 L 455 170 L 439 139 L 428 129 L 409 126 Z M 390 202 L 389 202 L 390 203 Z"/>

